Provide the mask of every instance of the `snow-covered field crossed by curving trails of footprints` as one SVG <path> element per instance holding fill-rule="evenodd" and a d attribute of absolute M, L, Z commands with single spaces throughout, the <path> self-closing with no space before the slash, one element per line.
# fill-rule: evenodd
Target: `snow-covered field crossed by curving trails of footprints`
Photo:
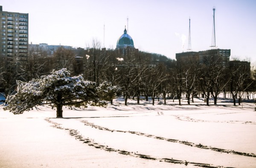
<path fill-rule="evenodd" d="M 107 108 L 0 105 L 1 168 L 256 168 L 254 103 L 177 105 L 119 98 Z"/>

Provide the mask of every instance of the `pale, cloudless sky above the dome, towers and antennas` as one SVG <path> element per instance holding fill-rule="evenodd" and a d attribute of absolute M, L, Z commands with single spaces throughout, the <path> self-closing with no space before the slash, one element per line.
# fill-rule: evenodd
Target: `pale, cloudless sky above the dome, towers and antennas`
<path fill-rule="evenodd" d="M 93 38 L 116 48 L 128 22 L 135 48 L 175 59 L 188 48 L 210 49 L 215 11 L 216 46 L 256 62 L 256 0 L 0 0 L 3 11 L 29 13 L 29 43 L 85 48 Z"/>

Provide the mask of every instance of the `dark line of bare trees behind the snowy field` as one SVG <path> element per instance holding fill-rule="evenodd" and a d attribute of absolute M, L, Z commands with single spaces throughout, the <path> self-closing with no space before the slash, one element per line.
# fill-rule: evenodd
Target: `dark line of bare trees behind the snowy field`
<path fill-rule="evenodd" d="M 81 57 L 76 52 L 58 48 L 52 57 L 47 57 L 40 48 L 30 48 L 27 58 L 3 60 L 0 64 L 0 86 L 6 97 L 15 91 L 16 80 L 30 81 L 42 75 L 48 75 L 55 69 L 67 68 L 72 75 L 83 74 L 84 79 L 99 85 L 103 81 L 118 86 L 119 95 L 124 96 L 125 105 L 128 98 L 155 97 L 177 98 L 181 105 L 182 94 L 186 94 L 187 103 L 194 101 L 195 96 L 204 94 L 207 105 L 209 98 L 220 93 L 232 94 L 234 105 L 236 99 L 244 94 L 256 91 L 256 70 L 248 72 L 244 65 L 226 68 L 218 64 L 216 59 L 209 60 L 208 65 L 199 65 L 193 60 L 176 63 L 160 54 L 140 52 L 136 55 L 119 56 L 115 51 L 103 51 L 99 47 L 84 51 Z"/>

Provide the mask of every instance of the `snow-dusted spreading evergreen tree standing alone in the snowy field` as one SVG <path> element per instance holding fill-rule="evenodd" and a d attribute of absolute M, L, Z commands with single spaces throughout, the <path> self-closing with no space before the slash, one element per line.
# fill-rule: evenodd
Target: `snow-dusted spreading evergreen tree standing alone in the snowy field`
<path fill-rule="evenodd" d="M 17 93 L 7 97 L 8 105 L 4 110 L 22 114 L 36 105 L 49 104 L 56 108 L 57 117 L 62 117 L 63 106 L 106 105 L 102 100 L 106 100 L 108 92 L 115 91 L 116 87 L 109 86 L 106 90 L 102 86 L 96 87 L 94 82 L 85 81 L 81 75 L 70 77 L 70 71 L 66 68 L 53 70 L 50 75 L 33 79 L 28 83 L 17 81 Z"/>

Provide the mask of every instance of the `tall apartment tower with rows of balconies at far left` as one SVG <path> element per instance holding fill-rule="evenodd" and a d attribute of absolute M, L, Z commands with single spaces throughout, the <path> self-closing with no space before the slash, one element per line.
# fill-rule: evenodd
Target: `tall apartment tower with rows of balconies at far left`
<path fill-rule="evenodd" d="M 29 14 L 3 11 L 0 6 L 0 60 L 8 63 L 26 58 L 29 43 Z"/>

